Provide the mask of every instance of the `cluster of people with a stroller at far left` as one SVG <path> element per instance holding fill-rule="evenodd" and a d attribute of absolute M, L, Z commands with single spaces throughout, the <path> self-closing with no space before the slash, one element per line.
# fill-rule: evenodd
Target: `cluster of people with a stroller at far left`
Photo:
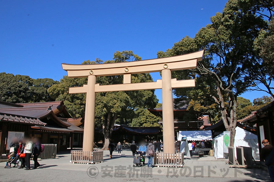
<path fill-rule="evenodd" d="M 10 152 L 7 163 L 4 168 L 11 167 L 12 160 L 17 156 L 20 158 L 20 166 L 18 169 L 30 170 L 30 158 L 33 156 L 34 169 L 40 166 L 37 159 L 41 152 L 41 144 L 37 138 L 30 139 L 25 137 L 19 140 L 15 137 L 9 145 Z M 14 164 L 13 167 L 16 167 Z"/>

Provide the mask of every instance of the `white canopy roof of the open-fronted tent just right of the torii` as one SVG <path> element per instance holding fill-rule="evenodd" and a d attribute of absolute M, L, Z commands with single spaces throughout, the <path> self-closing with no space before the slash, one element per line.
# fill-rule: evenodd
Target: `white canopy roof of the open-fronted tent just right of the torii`
<path fill-rule="evenodd" d="M 187 137 L 189 140 L 212 140 L 211 130 L 208 131 L 179 131 L 178 140 L 182 140 L 182 137 Z"/>

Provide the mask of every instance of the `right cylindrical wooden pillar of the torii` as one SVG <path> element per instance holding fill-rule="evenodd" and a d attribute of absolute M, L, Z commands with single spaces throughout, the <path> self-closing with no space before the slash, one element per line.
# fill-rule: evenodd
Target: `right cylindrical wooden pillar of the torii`
<path fill-rule="evenodd" d="M 164 153 L 175 152 L 173 97 L 171 70 L 162 70 L 162 105 L 163 105 L 163 145 Z"/>

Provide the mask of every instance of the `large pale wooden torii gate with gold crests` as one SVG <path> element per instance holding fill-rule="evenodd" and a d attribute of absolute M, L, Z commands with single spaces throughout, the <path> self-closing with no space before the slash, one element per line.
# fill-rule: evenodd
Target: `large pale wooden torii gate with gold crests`
<path fill-rule="evenodd" d="M 96 92 L 162 89 L 164 153 L 174 153 L 173 88 L 195 87 L 195 80 L 171 79 L 171 71 L 193 69 L 202 60 L 204 51 L 159 59 L 109 64 L 74 65 L 62 64 L 68 77 L 88 77 L 87 85 L 69 88 L 69 93 L 86 93 L 83 151 L 93 151 L 95 94 Z M 131 75 L 162 72 L 162 80 L 147 83 L 131 83 Z M 123 84 L 99 85 L 97 76 L 123 75 Z"/>

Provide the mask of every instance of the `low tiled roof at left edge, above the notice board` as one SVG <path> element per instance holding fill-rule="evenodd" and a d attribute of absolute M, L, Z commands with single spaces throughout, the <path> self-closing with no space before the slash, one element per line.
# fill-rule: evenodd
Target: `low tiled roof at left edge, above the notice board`
<path fill-rule="evenodd" d="M 1 122 L 9 121 L 14 123 L 24 123 L 24 124 L 40 125 L 40 126 L 45 126 L 47 124 L 42 122 L 39 118 L 7 114 L 7 113 L 0 113 L 0 121 Z"/>

